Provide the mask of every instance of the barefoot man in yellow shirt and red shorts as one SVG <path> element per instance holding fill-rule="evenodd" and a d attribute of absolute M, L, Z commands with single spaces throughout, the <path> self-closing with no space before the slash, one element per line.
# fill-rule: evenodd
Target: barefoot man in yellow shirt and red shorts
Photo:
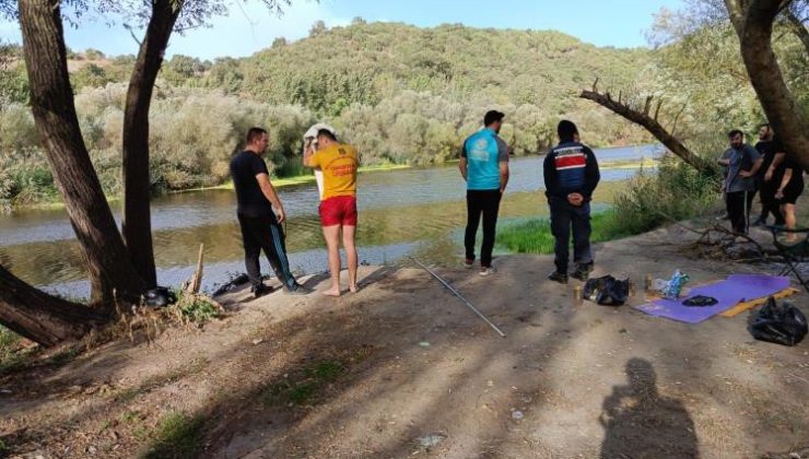
<path fill-rule="evenodd" d="M 339 143 L 327 129 L 317 133 L 317 151 L 304 154 L 304 165 L 319 167 L 324 176 L 320 197 L 320 225 L 329 252 L 331 287 L 325 295 L 340 296 L 340 232 L 349 262 L 349 290 L 356 292 L 356 150 Z"/>

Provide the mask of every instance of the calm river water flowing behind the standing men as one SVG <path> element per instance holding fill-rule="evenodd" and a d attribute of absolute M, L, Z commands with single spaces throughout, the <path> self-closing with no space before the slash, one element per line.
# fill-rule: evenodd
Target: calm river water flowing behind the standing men
<path fill-rule="evenodd" d="M 659 145 L 596 150 L 602 185 L 596 209 L 606 208 L 621 181 L 637 167 L 620 164 L 659 158 Z M 541 192 L 542 157 L 515 158 L 501 204 L 499 227 L 547 215 Z M 296 273 L 323 272 L 326 251 L 317 216 L 315 184 L 278 189 L 286 210 L 286 247 Z M 360 261 L 396 263 L 415 256 L 433 264 L 462 259 L 466 190 L 457 166 L 408 168 L 361 174 L 357 179 L 357 250 Z M 113 202 L 120 223 L 120 203 Z M 152 228 L 159 283 L 179 285 L 188 279 L 204 244 L 203 290 L 211 291 L 244 271 L 235 193 L 207 190 L 168 195 L 152 201 Z M 480 236 L 480 235 L 479 235 Z M 262 273 L 272 272 L 262 259 Z M 89 286 L 81 252 L 63 210 L 21 210 L 0 216 L 0 264 L 24 281 L 70 297 L 85 297 Z"/>

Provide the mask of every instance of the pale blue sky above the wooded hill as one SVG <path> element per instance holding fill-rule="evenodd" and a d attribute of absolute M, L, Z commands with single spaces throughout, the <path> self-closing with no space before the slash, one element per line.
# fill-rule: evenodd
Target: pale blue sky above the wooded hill
<path fill-rule="evenodd" d="M 682 0 L 293 0 L 281 16 L 260 0 L 226 0 L 228 15 L 210 27 L 174 34 L 167 56 L 200 59 L 245 57 L 269 47 L 277 37 L 296 40 L 308 35 L 316 21 L 343 26 L 354 17 L 367 22 L 403 22 L 422 27 L 460 23 L 471 27 L 555 30 L 597 46 L 647 46 L 644 32 L 660 8 L 676 10 Z M 142 35 L 142 34 L 141 34 Z M 0 20 L 0 39 L 22 43 L 19 24 Z M 66 43 L 75 50 L 98 49 L 108 56 L 138 51 L 138 44 L 120 25 L 84 21 L 66 26 Z"/>

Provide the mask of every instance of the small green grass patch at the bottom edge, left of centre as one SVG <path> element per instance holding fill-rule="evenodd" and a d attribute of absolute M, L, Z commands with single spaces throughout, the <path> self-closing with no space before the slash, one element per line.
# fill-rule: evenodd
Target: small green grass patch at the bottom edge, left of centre
<path fill-rule="evenodd" d="M 195 458 L 202 451 L 202 428 L 204 419 L 188 416 L 183 413 L 169 413 L 164 416 L 154 432 L 152 444 L 144 459 Z"/>

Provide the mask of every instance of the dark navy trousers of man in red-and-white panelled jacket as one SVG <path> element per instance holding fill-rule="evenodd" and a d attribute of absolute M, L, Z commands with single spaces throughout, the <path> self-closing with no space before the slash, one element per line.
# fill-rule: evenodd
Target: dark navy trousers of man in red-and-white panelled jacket
<path fill-rule="evenodd" d="M 571 250 L 571 228 L 573 229 L 573 262 L 587 264 L 593 262 L 590 249 L 590 203 L 575 207 L 566 199 L 548 198 L 551 208 L 551 233 L 555 239 L 553 252 L 556 271 L 567 272 L 567 260 Z"/>

